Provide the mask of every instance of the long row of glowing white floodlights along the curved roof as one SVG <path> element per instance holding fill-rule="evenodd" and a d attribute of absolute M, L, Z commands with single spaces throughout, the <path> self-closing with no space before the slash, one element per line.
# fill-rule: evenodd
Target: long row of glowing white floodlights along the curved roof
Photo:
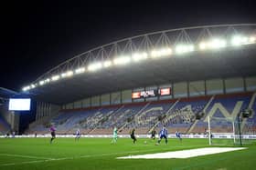
<path fill-rule="evenodd" d="M 23 91 L 28 91 L 30 89 L 36 88 L 38 85 L 46 85 L 50 82 L 56 82 L 59 79 L 64 79 L 71 77 L 73 75 L 80 75 L 83 73 L 92 73 L 99 71 L 104 68 L 111 67 L 113 65 L 128 65 L 132 62 L 137 63 L 147 59 L 157 59 L 161 57 L 169 57 L 171 55 L 187 55 L 194 51 L 207 51 L 207 50 L 221 50 L 229 46 L 240 46 L 240 45 L 250 45 L 256 43 L 256 36 L 245 36 L 245 35 L 234 35 L 230 40 L 224 38 L 213 38 L 202 41 L 197 45 L 192 44 L 177 44 L 172 49 L 169 46 L 162 48 L 155 48 L 152 51 L 140 51 L 134 52 L 132 55 L 119 55 L 114 57 L 112 60 L 108 59 L 105 61 L 95 61 L 87 66 L 79 67 L 75 70 L 69 70 L 59 75 L 52 75 L 44 80 L 31 85 L 27 85 L 22 88 Z"/>

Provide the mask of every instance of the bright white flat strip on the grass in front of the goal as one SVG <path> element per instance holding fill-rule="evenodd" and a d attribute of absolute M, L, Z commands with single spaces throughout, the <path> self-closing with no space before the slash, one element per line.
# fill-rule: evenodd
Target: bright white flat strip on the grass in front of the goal
<path fill-rule="evenodd" d="M 200 155 L 213 155 L 231 151 L 247 149 L 246 147 L 206 147 L 199 149 L 189 149 L 182 151 L 172 151 L 165 153 L 146 154 L 146 155 L 128 155 L 117 157 L 117 159 L 166 159 L 166 158 L 190 158 Z"/>

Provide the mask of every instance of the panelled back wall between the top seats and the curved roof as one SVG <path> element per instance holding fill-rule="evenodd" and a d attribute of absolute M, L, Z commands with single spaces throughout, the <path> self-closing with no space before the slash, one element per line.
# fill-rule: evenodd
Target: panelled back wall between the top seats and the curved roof
<path fill-rule="evenodd" d="M 133 92 L 152 90 L 157 88 L 171 88 L 171 95 L 132 99 Z M 86 108 L 99 105 L 117 105 L 133 102 L 155 101 L 163 99 L 193 97 L 202 95 L 218 95 L 236 92 L 256 91 L 256 76 L 232 77 L 227 79 L 210 79 L 193 82 L 178 82 L 165 85 L 150 85 L 134 89 L 126 89 L 111 94 L 92 96 L 74 103 L 62 105 L 63 108 Z"/>

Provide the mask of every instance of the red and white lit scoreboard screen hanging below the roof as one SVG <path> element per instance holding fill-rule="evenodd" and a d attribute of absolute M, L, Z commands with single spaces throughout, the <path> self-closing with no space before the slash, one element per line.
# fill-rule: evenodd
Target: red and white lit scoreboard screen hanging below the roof
<path fill-rule="evenodd" d="M 133 92 L 132 98 L 147 98 L 147 97 L 155 97 L 155 96 L 162 96 L 162 95 L 171 95 L 171 88 L 159 88 L 154 90 L 145 90 L 140 92 Z"/>

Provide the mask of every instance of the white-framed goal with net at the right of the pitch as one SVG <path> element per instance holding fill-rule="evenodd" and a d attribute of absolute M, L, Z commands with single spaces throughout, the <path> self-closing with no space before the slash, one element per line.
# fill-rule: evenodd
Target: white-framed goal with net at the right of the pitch
<path fill-rule="evenodd" d="M 240 118 L 208 116 L 209 145 L 243 145 L 247 138 L 248 125 Z"/>

